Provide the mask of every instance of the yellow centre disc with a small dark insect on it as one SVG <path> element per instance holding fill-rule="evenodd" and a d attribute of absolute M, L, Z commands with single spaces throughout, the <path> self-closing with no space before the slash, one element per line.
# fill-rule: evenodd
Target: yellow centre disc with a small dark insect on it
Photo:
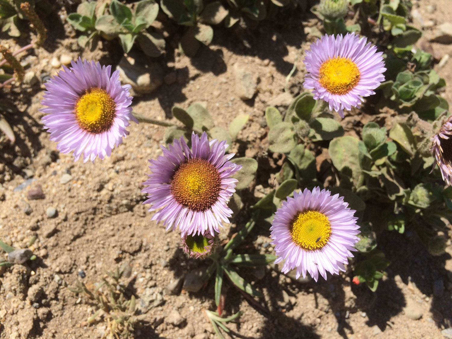
<path fill-rule="evenodd" d="M 299 212 L 290 223 L 292 240 L 304 250 L 318 250 L 331 235 L 328 217 L 318 211 Z"/>

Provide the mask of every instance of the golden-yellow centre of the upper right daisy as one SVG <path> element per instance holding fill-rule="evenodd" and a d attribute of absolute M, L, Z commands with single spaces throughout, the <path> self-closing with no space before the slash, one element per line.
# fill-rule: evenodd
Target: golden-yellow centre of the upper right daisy
<path fill-rule="evenodd" d="M 359 81 L 358 66 L 348 58 L 336 56 L 324 61 L 319 70 L 319 82 L 331 94 L 347 94 Z"/>

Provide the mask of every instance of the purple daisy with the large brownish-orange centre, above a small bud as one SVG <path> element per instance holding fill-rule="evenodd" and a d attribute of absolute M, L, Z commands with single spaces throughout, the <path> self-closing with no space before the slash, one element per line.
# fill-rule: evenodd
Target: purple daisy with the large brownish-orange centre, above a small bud
<path fill-rule="evenodd" d="M 235 154 L 226 154 L 226 141 L 208 141 L 206 132 L 201 138 L 192 134 L 192 151 L 184 138 L 174 139 L 174 145 L 162 147 L 163 156 L 149 160 L 152 173 L 144 182 L 148 193 L 143 203 L 155 211 L 151 220 L 163 221 L 173 231 L 179 226 L 182 235 L 214 235 L 221 221 L 229 223 L 232 216 L 227 206 L 235 192 L 237 179 L 231 178 L 242 168 L 229 161 Z"/>

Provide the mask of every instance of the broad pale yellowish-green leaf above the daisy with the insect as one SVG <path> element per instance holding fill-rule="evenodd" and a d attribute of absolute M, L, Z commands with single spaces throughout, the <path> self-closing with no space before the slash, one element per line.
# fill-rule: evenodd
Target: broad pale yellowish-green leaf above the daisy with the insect
<path fill-rule="evenodd" d="M 352 179 L 358 188 L 361 178 L 361 163 L 359 160 L 358 139 L 352 136 L 334 138 L 328 147 L 328 153 L 342 175 Z"/>

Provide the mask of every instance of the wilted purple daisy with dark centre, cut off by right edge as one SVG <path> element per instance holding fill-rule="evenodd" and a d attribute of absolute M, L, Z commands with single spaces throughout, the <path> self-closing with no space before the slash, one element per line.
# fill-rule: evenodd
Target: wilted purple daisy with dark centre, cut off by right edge
<path fill-rule="evenodd" d="M 432 137 L 433 155 L 446 184 L 452 184 L 452 116 L 443 123 L 438 134 Z"/>

